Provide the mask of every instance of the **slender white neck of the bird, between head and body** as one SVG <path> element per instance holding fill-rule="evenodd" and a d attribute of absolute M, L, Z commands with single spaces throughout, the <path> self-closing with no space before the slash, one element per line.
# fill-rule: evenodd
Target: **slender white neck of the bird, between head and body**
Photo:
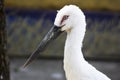
<path fill-rule="evenodd" d="M 82 41 L 85 34 L 85 25 L 75 26 L 70 32 L 67 32 L 67 39 L 65 43 L 64 59 L 84 61 L 82 54 Z"/>

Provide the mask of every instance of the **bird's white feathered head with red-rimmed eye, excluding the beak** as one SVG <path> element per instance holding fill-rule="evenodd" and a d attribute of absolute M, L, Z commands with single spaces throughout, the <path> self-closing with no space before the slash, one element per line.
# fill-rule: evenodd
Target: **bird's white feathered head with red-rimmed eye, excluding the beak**
<path fill-rule="evenodd" d="M 54 25 L 61 27 L 61 31 L 70 32 L 78 23 L 85 23 L 83 12 L 75 5 L 66 5 L 57 12 Z"/>

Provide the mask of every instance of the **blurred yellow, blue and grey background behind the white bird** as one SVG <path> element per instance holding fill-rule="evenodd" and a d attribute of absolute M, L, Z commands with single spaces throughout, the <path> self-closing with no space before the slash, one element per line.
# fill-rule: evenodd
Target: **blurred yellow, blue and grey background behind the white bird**
<path fill-rule="evenodd" d="M 25 70 L 21 67 L 53 25 L 56 10 L 67 4 L 79 6 L 86 16 L 82 49 L 86 60 L 112 80 L 120 80 L 120 0 L 5 0 L 4 4 L 11 80 L 65 80 L 65 33 Z"/>

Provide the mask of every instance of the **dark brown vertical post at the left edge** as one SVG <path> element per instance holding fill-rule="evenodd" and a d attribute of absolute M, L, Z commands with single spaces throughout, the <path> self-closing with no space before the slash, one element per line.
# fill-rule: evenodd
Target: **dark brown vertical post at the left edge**
<path fill-rule="evenodd" d="M 0 0 L 0 80 L 9 80 L 9 64 L 6 56 L 4 0 Z"/>

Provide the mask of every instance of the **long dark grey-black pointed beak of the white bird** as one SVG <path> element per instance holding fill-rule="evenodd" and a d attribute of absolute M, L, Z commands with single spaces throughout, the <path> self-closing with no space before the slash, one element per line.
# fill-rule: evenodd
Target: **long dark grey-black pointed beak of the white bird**
<path fill-rule="evenodd" d="M 28 60 L 25 62 L 23 67 L 25 68 L 27 65 L 29 65 L 36 57 L 38 57 L 40 52 L 43 52 L 46 46 L 56 39 L 62 31 L 60 30 L 61 27 L 53 26 L 50 31 L 45 35 L 43 40 L 40 42 L 38 48 L 32 53 L 32 55 L 28 58 Z"/>

